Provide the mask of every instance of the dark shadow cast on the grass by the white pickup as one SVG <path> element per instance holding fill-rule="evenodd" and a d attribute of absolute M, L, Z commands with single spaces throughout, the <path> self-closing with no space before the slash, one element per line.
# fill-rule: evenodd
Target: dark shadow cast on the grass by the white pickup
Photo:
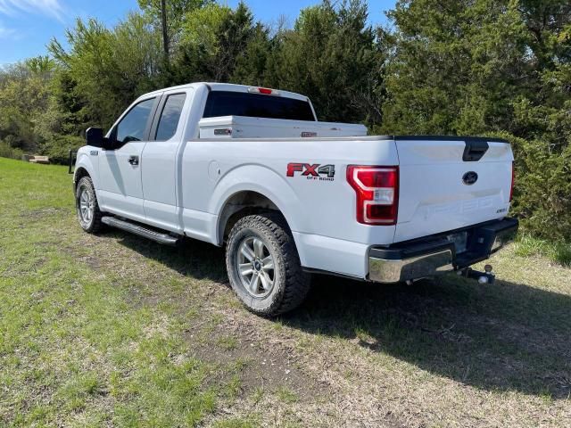
<path fill-rule="evenodd" d="M 112 234 L 181 275 L 228 286 L 220 248 L 196 241 L 171 248 Z M 281 322 L 476 388 L 552 399 L 571 395 L 571 297 L 528 284 L 442 276 L 380 285 L 315 276 L 302 308 Z"/>

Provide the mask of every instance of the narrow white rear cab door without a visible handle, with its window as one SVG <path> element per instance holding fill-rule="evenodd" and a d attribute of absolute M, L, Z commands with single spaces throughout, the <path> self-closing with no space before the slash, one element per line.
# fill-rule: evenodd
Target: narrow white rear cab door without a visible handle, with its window
<path fill-rule="evenodd" d="M 184 143 L 192 89 L 166 92 L 153 120 L 143 151 L 142 177 L 146 223 L 180 233 L 178 219 L 178 151 Z M 186 114 L 185 114 L 186 112 Z"/>

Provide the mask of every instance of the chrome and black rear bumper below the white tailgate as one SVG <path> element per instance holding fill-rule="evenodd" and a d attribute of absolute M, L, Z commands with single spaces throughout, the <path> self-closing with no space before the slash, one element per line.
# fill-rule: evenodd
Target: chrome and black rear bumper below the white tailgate
<path fill-rule="evenodd" d="M 468 268 L 512 241 L 517 226 L 516 218 L 503 218 L 389 247 L 372 247 L 368 251 L 368 280 L 398 283 Z M 447 236 L 461 232 L 468 234 L 468 242 L 466 251 L 457 254 Z"/>

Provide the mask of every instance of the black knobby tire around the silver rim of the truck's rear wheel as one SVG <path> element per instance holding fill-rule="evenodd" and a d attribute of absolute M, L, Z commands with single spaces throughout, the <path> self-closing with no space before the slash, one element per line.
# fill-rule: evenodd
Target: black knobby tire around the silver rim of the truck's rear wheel
<path fill-rule="evenodd" d="M 261 240 L 272 256 L 273 281 L 267 295 L 256 296 L 248 291 L 239 272 L 239 259 L 243 257 L 240 254 L 244 254 L 241 248 L 252 239 Z M 253 267 L 254 262 L 252 272 Z M 302 270 L 294 237 L 285 219 L 277 213 L 246 216 L 236 222 L 228 236 L 226 268 L 230 285 L 244 306 L 263 317 L 275 317 L 297 308 L 310 289 L 310 275 Z"/>

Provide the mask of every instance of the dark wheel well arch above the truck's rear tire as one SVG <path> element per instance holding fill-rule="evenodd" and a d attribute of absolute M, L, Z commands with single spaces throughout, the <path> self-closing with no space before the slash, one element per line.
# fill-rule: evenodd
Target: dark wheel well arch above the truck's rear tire
<path fill-rule="evenodd" d="M 277 204 L 269 199 L 268 196 L 252 190 L 234 193 L 224 202 L 224 206 L 220 211 L 218 243 L 222 244 L 226 241 L 230 230 L 240 218 L 268 211 L 277 212 L 285 219 L 284 213 L 279 210 Z M 285 224 L 287 224 L 286 219 Z"/>

